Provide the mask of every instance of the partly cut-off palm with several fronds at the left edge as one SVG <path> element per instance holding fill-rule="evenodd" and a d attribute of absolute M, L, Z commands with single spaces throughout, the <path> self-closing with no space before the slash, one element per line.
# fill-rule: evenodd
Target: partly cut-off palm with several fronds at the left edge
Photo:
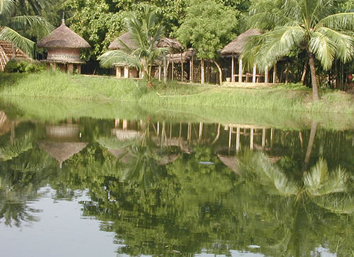
<path fill-rule="evenodd" d="M 33 56 L 35 42 L 26 38 L 25 33 L 42 37 L 53 27 L 40 16 L 13 16 L 15 11 L 16 1 L 0 0 L 0 40 L 7 40 Z"/>

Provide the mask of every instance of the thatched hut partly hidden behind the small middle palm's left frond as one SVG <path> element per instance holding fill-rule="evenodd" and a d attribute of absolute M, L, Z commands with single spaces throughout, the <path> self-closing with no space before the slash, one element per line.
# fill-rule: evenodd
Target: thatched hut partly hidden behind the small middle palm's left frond
<path fill-rule="evenodd" d="M 130 32 L 125 32 L 117 40 L 110 43 L 108 49 L 129 52 L 137 49 L 137 44 L 132 39 Z M 115 76 L 117 78 L 139 78 L 139 71 L 135 67 L 125 63 L 117 63 L 113 64 L 113 66 L 115 66 Z"/>

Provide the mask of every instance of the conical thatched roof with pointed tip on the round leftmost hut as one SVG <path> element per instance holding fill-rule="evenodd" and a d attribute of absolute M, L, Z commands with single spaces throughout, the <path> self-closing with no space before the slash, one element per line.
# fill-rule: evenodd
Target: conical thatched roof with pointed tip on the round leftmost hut
<path fill-rule="evenodd" d="M 62 25 L 53 30 L 50 35 L 43 37 L 37 44 L 43 48 L 90 48 L 90 44 L 84 38 L 77 35 L 65 25 L 64 20 Z"/>

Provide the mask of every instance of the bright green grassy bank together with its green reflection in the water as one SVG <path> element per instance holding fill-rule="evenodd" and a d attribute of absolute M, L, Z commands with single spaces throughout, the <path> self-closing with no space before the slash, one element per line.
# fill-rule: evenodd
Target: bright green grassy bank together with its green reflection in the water
<path fill-rule="evenodd" d="M 0 73 L 0 97 L 13 115 L 35 119 L 90 116 L 98 119 L 165 119 L 210 123 L 260 124 L 302 128 L 312 119 L 326 128 L 353 128 L 353 95 L 312 91 L 301 85 L 224 88 L 213 85 L 69 76 L 59 72 Z"/>

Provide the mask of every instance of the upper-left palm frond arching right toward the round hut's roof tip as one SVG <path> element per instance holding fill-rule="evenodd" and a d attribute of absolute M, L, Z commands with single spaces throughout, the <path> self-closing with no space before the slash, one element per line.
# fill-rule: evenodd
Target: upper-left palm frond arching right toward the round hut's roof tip
<path fill-rule="evenodd" d="M 31 30 L 40 37 L 48 35 L 54 27 L 40 16 L 15 16 L 8 24 L 13 30 Z"/>

